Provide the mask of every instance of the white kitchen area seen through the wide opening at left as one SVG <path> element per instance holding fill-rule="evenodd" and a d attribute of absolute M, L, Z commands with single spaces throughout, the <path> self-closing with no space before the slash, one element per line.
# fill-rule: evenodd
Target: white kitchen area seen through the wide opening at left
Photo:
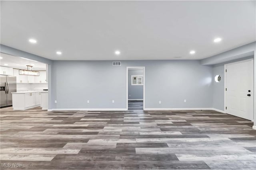
<path fill-rule="evenodd" d="M 47 64 L 0 53 L 0 107 L 47 110 Z"/>

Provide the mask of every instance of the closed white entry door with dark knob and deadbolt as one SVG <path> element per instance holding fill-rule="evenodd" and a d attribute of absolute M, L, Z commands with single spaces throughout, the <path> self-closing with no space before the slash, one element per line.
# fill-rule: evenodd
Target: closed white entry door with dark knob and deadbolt
<path fill-rule="evenodd" d="M 253 60 L 226 64 L 226 113 L 253 120 Z"/>

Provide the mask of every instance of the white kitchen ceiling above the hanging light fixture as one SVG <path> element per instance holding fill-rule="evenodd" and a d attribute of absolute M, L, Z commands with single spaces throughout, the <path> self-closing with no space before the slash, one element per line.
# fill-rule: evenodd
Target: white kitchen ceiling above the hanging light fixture
<path fill-rule="evenodd" d="M 4 53 L 0 53 L 0 56 L 2 57 L 2 59 L 0 59 L 1 66 L 6 66 L 4 64 L 8 64 L 6 67 L 27 70 L 27 65 L 29 65 L 33 66 L 33 70 L 46 70 L 46 64 L 40 63 L 38 61 L 15 57 Z"/>

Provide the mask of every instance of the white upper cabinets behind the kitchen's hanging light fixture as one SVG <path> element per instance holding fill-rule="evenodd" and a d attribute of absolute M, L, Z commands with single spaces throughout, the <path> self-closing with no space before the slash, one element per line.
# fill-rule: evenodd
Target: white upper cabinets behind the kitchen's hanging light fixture
<path fill-rule="evenodd" d="M 46 83 L 46 71 L 40 71 L 39 76 L 20 75 L 18 69 L 13 69 L 17 83 Z"/>

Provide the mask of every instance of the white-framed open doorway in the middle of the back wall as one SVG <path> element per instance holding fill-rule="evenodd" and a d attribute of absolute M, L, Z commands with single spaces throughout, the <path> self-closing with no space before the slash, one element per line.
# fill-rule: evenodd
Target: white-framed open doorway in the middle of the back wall
<path fill-rule="evenodd" d="M 145 108 L 145 67 L 126 67 L 126 109 L 144 110 Z"/>

